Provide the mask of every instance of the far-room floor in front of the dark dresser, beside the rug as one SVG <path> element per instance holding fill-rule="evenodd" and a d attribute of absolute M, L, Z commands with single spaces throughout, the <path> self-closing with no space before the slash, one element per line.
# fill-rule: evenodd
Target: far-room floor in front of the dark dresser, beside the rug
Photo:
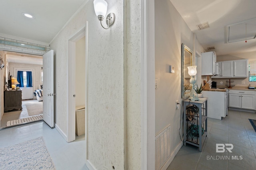
<path fill-rule="evenodd" d="M 16 119 L 23 119 L 23 118 L 27 118 L 27 117 L 32 117 L 32 116 L 28 115 L 28 111 L 26 109 L 26 104 L 38 103 L 38 102 L 42 102 L 42 101 L 37 101 L 36 99 L 23 100 L 21 111 L 14 110 L 14 111 L 9 111 L 9 112 L 4 113 L 4 115 L 1 119 L 1 122 L 0 122 L 0 127 L 6 127 L 6 123 L 8 121 L 12 121 L 12 120 L 16 120 Z"/>

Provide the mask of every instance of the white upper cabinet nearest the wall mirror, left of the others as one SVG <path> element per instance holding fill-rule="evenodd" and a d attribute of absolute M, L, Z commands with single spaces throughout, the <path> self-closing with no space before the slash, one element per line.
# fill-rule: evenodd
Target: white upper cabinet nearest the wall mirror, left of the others
<path fill-rule="evenodd" d="M 202 75 L 216 75 L 215 63 L 216 53 L 214 51 L 201 53 L 202 55 Z"/>

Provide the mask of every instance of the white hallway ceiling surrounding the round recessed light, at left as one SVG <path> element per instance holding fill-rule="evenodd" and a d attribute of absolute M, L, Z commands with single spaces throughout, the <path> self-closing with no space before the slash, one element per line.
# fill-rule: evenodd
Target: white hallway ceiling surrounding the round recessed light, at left
<path fill-rule="evenodd" d="M 1 0 L 0 33 L 50 43 L 85 0 Z M 26 18 L 22 12 L 32 14 Z"/>

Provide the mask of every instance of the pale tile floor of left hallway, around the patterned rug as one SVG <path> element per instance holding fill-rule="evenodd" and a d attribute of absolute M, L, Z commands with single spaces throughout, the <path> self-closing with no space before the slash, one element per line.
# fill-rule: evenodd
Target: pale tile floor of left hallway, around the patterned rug
<path fill-rule="evenodd" d="M 88 170 L 85 165 L 85 136 L 76 136 L 75 141 L 68 143 L 56 128 L 52 129 L 44 122 L 0 130 L 0 148 L 40 136 L 44 138 L 56 170 Z"/>

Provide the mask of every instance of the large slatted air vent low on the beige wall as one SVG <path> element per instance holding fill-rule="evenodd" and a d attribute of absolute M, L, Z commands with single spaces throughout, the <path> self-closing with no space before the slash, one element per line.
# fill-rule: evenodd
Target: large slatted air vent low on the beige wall
<path fill-rule="evenodd" d="M 168 126 L 155 138 L 155 170 L 160 170 L 168 160 L 171 154 L 170 148 L 171 130 L 170 126 Z"/>

